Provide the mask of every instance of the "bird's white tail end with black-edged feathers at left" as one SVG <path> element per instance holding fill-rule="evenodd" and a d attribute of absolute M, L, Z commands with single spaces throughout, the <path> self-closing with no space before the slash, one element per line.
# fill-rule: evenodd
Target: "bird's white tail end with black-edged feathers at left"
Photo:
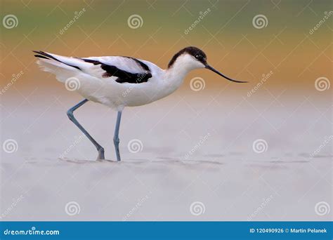
<path fill-rule="evenodd" d="M 81 61 L 77 58 L 69 58 L 43 51 L 33 52 L 37 53 L 34 56 L 38 58 L 37 64 L 39 67 L 41 67 L 45 72 L 55 74 L 56 78 L 61 82 L 65 82 L 66 79 L 81 72 L 79 67 Z"/>

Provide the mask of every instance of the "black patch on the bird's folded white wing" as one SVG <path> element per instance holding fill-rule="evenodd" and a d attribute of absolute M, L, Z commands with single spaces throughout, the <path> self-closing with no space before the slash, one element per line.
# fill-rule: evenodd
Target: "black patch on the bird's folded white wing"
<path fill-rule="evenodd" d="M 116 79 L 116 81 L 119 84 L 123 84 L 123 83 L 141 84 L 141 83 L 147 82 L 148 79 L 150 79 L 152 77 L 149 67 L 147 65 L 145 65 L 143 62 L 137 60 L 136 58 L 131 58 L 131 59 L 136 61 L 139 65 L 141 65 L 141 67 L 143 67 L 145 72 L 142 72 L 142 73 L 126 72 L 122 69 L 119 69 L 116 66 L 107 65 L 98 60 L 81 58 L 81 60 L 84 60 L 84 62 L 90 62 L 93 65 L 100 65 L 100 68 L 102 68 L 105 71 L 105 73 L 102 75 L 103 77 L 107 78 L 110 76 L 117 76 L 118 78 Z"/>

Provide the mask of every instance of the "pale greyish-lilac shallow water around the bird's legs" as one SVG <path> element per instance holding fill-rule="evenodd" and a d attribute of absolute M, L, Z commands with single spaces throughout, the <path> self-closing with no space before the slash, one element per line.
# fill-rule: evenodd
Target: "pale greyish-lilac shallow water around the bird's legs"
<path fill-rule="evenodd" d="M 52 102 L 36 102 L 2 119 L 3 138 L 18 142 L 17 151 L 1 153 L 2 219 L 332 219 L 315 211 L 322 201 L 332 206 L 332 142 L 311 157 L 329 134 L 329 112 L 318 116 L 304 105 L 290 115 L 297 106 L 289 106 L 263 118 L 246 104 L 195 100 L 187 102 L 196 112 L 182 101 L 125 109 L 116 162 L 115 113 L 94 104 L 77 111 L 110 159 L 95 161 L 96 149 L 65 116 L 71 102 L 51 109 L 44 107 Z M 133 139 L 142 143 L 137 153 L 129 151 Z M 257 139 L 267 142 L 262 153 L 254 152 Z M 68 215 L 72 201 L 79 211 Z M 191 212 L 195 202 L 199 215 Z"/>

